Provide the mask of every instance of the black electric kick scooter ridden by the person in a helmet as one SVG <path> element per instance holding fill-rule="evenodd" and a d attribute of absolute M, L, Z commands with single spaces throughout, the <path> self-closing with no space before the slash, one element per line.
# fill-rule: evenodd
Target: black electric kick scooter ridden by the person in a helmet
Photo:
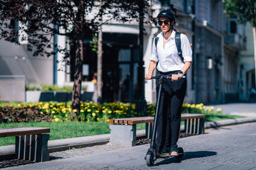
<path fill-rule="evenodd" d="M 159 103 L 161 98 L 161 90 L 163 89 L 163 81 L 168 80 L 169 78 L 172 78 L 170 76 L 162 76 L 157 74 L 156 76 L 152 76 L 152 78 L 158 80 L 159 83 L 159 90 L 157 94 L 157 103 L 156 103 L 156 113 L 154 117 L 154 125 L 153 125 L 153 132 L 152 132 L 152 139 L 150 143 L 150 148 L 148 149 L 147 155 L 145 157 L 145 160 L 147 162 L 147 166 L 153 166 L 156 159 L 164 158 L 168 159 L 170 157 L 176 157 L 177 160 L 182 160 L 184 156 L 183 148 L 179 147 L 179 155 L 178 156 L 168 156 L 168 157 L 157 157 L 157 151 L 156 151 L 156 128 L 157 128 L 157 118 L 159 113 Z"/>

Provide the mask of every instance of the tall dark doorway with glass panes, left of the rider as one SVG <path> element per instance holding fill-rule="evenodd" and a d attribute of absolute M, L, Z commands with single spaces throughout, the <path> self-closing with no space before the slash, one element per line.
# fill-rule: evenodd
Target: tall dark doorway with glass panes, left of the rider
<path fill-rule="evenodd" d="M 138 35 L 104 34 L 103 89 L 104 102 L 136 101 Z"/>

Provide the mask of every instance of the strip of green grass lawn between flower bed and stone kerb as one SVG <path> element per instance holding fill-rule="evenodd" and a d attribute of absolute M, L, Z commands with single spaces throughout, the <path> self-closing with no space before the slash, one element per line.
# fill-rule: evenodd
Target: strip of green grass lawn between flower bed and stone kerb
<path fill-rule="evenodd" d="M 228 118 L 239 117 L 234 115 L 207 114 L 205 122 L 214 122 Z M 108 122 L 36 122 L 0 124 L 0 128 L 3 127 L 50 127 L 50 140 L 92 136 L 97 134 L 108 134 L 110 132 Z M 137 125 L 137 130 L 141 129 L 145 129 L 145 124 Z M 0 138 L 0 146 L 14 144 L 14 137 Z"/>

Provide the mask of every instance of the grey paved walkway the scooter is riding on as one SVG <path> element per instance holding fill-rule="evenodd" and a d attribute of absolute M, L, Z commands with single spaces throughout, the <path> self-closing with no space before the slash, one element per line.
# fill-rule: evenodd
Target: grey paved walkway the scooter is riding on
<path fill-rule="evenodd" d="M 149 145 L 122 148 L 10 169 L 256 169 L 256 123 L 207 129 L 207 134 L 180 138 L 184 160 L 157 159 L 147 167 Z"/>

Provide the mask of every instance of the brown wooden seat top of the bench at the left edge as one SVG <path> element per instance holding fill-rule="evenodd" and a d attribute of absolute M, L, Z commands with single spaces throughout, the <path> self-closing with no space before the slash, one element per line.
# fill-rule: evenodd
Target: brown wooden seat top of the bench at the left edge
<path fill-rule="evenodd" d="M 8 127 L 0 128 L 0 138 L 10 136 L 24 136 L 29 134 L 42 134 L 49 132 L 49 127 Z"/>

